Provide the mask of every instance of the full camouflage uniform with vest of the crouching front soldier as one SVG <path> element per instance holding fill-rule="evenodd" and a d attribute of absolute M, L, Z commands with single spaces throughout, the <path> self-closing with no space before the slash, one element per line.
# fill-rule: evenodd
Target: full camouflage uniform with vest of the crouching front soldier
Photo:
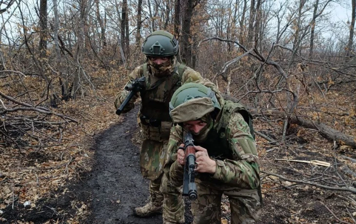
<path fill-rule="evenodd" d="M 256 143 L 240 111 L 241 105 L 225 101 L 218 120 L 204 143 L 216 161 L 214 175 L 197 173 L 198 199 L 192 201 L 194 224 L 220 223 L 221 195 L 229 197 L 232 224 L 256 223 L 261 214 L 259 159 Z M 183 167 L 177 161 L 177 150 L 184 130 L 172 128 L 167 149 L 165 172 L 174 186 L 182 185 Z M 194 138 L 194 135 L 193 135 Z M 178 209 L 179 210 L 179 209 Z"/>

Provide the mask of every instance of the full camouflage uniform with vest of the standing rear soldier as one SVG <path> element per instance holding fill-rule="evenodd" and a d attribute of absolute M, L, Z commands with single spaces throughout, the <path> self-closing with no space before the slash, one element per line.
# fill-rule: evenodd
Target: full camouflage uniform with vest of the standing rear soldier
<path fill-rule="evenodd" d="M 172 75 L 157 77 L 159 75 L 153 75 L 157 71 L 152 71 L 151 66 L 148 66 L 148 64 L 137 67 L 129 75 L 130 81 L 145 76 L 146 89 L 134 96 L 123 111 L 128 112 L 133 109 L 134 102 L 138 96 L 141 96 L 142 102 L 138 112 L 138 123 L 142 130 L 143 142 L 140 150 L 139 164 L 143 177 L 150 180 L 149 191 L 151 202 L 157 207 L 162 206 L 163 201 L 163 194 L 159 190 L 159 187 L 163 176 L 170 129 L 173 125 L 169 116 L 169 101 L 172 94 L 182 84 L 195 81 L 206 84 L 216 90 L 214 84 L 203 79 L 198 72 L 176 62 L 175 57 L 172 60 L 173 66 L 168 68 Z M 116 108 L 119 108 L 128 94 L 128 91 L 122 90 L 117 95 L 115 99 Z M 166 183 L 166 181 L 164 182 Z M 164 209 L 163 220 L 166 223 L 184 223 L 184 205 L 181 195 L 178 193 L 177 187 L 169 189 L 169 192 L 167 192 L 167 187 L 161 189 L 163 193 L 169 194 L 169 202 L 165 203 L 167 205 L 165 207 L 176 206 L 174 204 L 178 204 L 182 210 L 178 212 L 179 215 L 176 215 L 170 214 L 169 210 Z"/>

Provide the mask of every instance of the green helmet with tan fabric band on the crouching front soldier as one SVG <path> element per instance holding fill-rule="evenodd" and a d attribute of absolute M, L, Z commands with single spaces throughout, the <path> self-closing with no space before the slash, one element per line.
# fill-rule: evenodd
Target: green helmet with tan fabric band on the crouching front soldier
<path fill-rule="evenodd" d="M 221 110 L 215 93 L 198 83 L 187 83 L 178 88 L 169 103 L 169 110 L 175 124 L 197 120 L 205 114 Z"/>

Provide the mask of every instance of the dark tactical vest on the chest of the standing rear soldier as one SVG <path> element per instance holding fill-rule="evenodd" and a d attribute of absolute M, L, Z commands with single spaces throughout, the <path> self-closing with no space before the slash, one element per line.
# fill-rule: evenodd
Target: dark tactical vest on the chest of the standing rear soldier
<path fill-rule="evenodd" d="M 146 77 L 146 89 L 141 94 L 140 126 L 143 137 L 155 141 L 168 140 L 172 119 L 169 115 L 169 102 L 173 93 L 182 85 L 185 63 L 178 63 L 171 75 L 151 83 L 147 68 L 143 64 L 142 75 Z"/>

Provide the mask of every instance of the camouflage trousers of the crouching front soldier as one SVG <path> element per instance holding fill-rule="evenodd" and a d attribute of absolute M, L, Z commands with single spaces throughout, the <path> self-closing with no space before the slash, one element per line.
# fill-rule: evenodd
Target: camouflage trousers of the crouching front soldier
<path fill-rule="evenodd" d="M 196 179 L 198 199 L 192 201 L 193 224 L 221 223 L 221 196 L 229 197 L 231 224 L 255 224 L 261 216 L 260 199 L 256 190 L 212 184 Z"/>

